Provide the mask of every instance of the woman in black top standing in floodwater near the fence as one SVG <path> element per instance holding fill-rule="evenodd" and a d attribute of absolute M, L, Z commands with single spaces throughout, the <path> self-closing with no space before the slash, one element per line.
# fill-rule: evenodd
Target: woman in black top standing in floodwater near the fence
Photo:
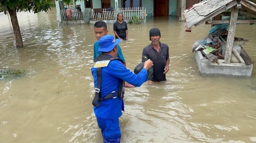
<path fill-rule="evenodd" d="M 122 13 L 118 13 L 117 21 L 115 21 L 113 29 L 115 39 L 128 40 L 128 27 Z"/>

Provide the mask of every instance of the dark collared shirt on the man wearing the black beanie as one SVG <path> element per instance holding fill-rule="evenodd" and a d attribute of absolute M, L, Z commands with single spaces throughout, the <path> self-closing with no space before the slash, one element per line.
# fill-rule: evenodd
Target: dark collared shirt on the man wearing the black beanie
<path fill-rule="evenodd" d="M 146 56 L 146 57 L 145 57 Z M 166 81 L 166 75 L 164 74 L 164 67 L 166 60 L 169 58 L 169 47 L 167 44 L 160 42 L 159 54 L 154 49 L 152 43 L 145 47 L 142 51 L 142 62 L 147 59 L 151 59 L 153 62 L 153 78 L 151 81 Z"/>

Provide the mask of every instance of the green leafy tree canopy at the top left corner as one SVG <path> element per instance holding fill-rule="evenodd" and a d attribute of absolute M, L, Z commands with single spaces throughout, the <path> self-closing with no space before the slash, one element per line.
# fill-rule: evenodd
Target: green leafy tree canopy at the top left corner
<path fill-rule="evenodd" d="M 18 11 L 40 11 L 47 12 L 53 6 L 52 0 L 0 0 L 0 11 L 7 13 L 7 8 L 16 9 Z"/>

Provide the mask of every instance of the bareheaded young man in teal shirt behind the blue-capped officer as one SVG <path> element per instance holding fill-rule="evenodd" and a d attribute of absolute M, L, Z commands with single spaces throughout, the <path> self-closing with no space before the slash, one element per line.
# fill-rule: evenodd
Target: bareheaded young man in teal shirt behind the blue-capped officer
<path fill-rule="evenodd" d="M 94 47 L 93 47 L 93 50 L 94 50 L 93 59 L 95 59 L 98 55 L 102 54 L 102 52 L 98 51 L 99 49 L 98 41 L 102 36 L 107 35 L 108 32 L 109 30 L 107 29 L 107 24 L 104 21 L 97 21 L 94 24 L 94 34 L 97 41 L 94 43 Z M 124 64 L 126 65 L 124 55 L 122 54 L 122 50 L 120 46 L 117 45 L 117 48 L 118 48 L 117 57 L 119 59 L 122 59 L 124 61 Z"/>

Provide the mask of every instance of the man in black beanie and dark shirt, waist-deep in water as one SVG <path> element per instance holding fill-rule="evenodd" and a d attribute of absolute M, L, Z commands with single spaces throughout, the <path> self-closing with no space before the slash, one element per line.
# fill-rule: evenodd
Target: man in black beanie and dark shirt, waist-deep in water
<path fill-rule="evenodd" d="M 142 62 L 151 59 L 153 65 L 153 77 L 148 81 L 151 83 L 166 81 L 166 73 L 169 71 L 169 47 L 160 42 L 161 33 L 158 28 L 152 28 L 149 31 L 149 40 L 151 44 L 142 51 Z"/>

